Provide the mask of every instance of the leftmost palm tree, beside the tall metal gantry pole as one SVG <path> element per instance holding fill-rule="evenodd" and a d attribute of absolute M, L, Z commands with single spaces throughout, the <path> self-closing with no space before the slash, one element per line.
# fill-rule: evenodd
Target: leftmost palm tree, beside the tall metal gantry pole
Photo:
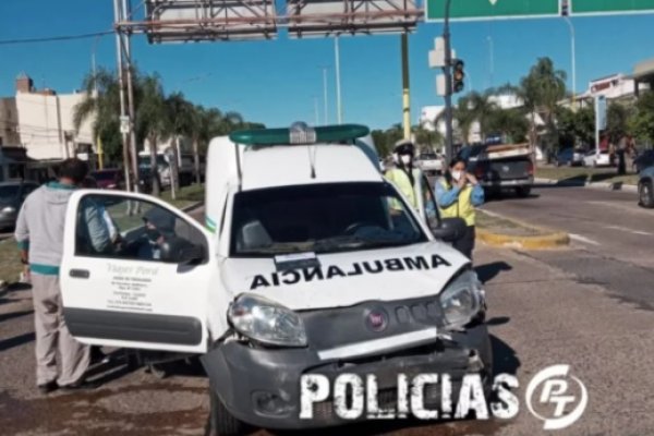
<path fill-rule="evenodd" d="M 116 73 L 99 69 L 86 74 L 82 83 L 84 98 L 73 108 L 73 126 L 80 132 L 82 124 L 92 121 L 93 137 L 102 142 L 104 155 L 109 161 L 121 160 L 120 85 Z M 123 150 L 123 159 L 129 149 Z"/>

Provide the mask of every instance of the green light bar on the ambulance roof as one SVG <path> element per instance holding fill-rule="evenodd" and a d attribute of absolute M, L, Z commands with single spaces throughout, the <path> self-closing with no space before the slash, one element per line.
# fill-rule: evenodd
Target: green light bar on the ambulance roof
<path fill-rule="evenodd" d="M 370 134 L 361 124 L 339 124 L 311 128 L 306 123 L 293 123 L 290 129 L 261 129 L 232 132 L 229 138 L 241 145 L 310 145 L 316 143 L 348 144 Z"/>

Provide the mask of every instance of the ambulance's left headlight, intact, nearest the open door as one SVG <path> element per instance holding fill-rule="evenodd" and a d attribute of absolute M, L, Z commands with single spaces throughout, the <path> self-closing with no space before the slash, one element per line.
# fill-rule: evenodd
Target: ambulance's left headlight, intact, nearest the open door
<path fill-rule="evenodd" d="M 306 347 L 302 318 L 274 301 L 242 293 L 230 304 L 227 317 L 241 335 L 269 346 Z"/>

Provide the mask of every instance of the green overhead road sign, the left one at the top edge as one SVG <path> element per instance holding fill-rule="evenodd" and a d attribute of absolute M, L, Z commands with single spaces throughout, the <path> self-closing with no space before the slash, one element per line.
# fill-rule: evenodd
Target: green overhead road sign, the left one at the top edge
<path fill-rule="evenodd" d="M 425 0 L 425 21 L 444 21 L 445 3 L 446 0 Z M 546 16 L 560 16 L 560 0 L 452 0 L 450 5 L 452 21 Z"/>

